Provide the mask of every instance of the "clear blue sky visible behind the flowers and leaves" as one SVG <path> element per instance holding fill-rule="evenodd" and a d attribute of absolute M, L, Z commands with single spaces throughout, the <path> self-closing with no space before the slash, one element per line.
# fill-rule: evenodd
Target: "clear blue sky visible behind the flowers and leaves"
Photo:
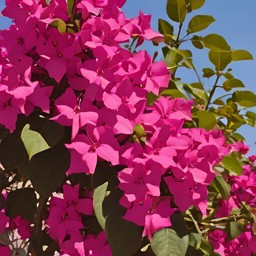
<path fill-rule="evenodd" d="M 4 0 L 0 0 L 0 9 L 4 8 Z M 178 23 L 170 21 L 166 15 L 166 0 L 127 0 L 122 8 L 127 18 L 138 16 L 139 9 L 145 14 L 152 14 L 151 27 L 158 31 L 158 19 L 162 18 L 171 22 L 175 28 L 177 35 Z M 256 59 L 256 1 L 255 0 L 206 0 L 204 6 L 198 10 L 188 13 L 183 25 L 183 33 L 185 35 L 187 24 L 189 20 L 197 14 L 212 15 L 217 21 L 213 22 L 207 29 L 197 33 L 201 36 L 216 33 L 223 36 L 232 49 L 246 49 Z M 0 29 L 9 27 L 11 20 L 6 17 L 1 17 Z M 160 54 L 157 60 L 162 59 L 161 46 L 155 47 L 150 42 L 145 42 L 144 49 L 147 49 L 149 54 L 153 56 L 154 52 L 158 51 Z M 182 45 L 182 49 L 190 49 L 193 53 L 193 62 L 202 75 L 202 68 L 211 67 L 213 65 L 208 60 L 207 49 L 195 49 L 190 42 Z M 250 90 L 256 94 L 256 61 L 240 61 L 234 62 L 229 65 L 233 69 L 231 72 L 237 79 L 243 81 L 246 86 L 245 90 Z M 180 68 L 177 72 L 177 77 L 181 77 L 184 83 L 197 82 L 197 78 L 192 70 Z M 220 84 L 221 85 L 220 81 Z M 213 85 L 214 81 L 204 79 L 204 84 L 207 86 Z M 224 95 L 224 91 L 220 88 L 216 91 L 216 97 Z M 250 111 L 256 108 L 249 109 Z M 252 150 L 250 155 L 256 154 L 256 128 L 244 125 L 238 129 L 246 139 L 246 143 L 250 144 Z"/>

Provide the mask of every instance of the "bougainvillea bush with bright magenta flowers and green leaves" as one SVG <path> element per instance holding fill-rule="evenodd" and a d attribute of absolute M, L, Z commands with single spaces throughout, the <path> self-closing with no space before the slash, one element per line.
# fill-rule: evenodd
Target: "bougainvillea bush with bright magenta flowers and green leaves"
<path fill-rule="evenodd" d="M 238 105 L 255 106 L 256 96 L 236 91 L 227 105 L 211 102 L 220 76 L 225 90 L 242 83 L 222 73 L 227 65 L 251 55 L 231 52 L 224 38 L 219 49 L 194 36 L 216 66 L 204 69 L 217 76 L 208 96 L 200 79 L 175 79 L 177 67 L 195 67 L 172 26 L 159 20 L 153 31 L 141 11 L 127 19 L 125 2 L 6 0 L 2 15 L 13 25 L 0 31 L 1 255 L 256 253 L 256 157 L 244 157 L 249 147 L 235 132 L 254 126 L 253 112 L 239 121 Z M 180 24 L 204 3 L 180 2 L 167 3 Z M 211 16 L 192 18 L 187 35 L 206 22 Z M 137 50 L 144 40 L 168 44 L 165 62 Z"/>

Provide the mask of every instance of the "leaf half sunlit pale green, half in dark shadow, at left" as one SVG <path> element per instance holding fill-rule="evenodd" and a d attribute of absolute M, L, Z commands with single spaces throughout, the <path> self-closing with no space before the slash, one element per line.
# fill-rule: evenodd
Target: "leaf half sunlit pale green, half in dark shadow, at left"
<path fill-rule="evenodd" d="M 64 134 L 64 126 L 46 119 L 35 117 L 22 130 L 21 138 L 29 159 L 43 150 L 54 146 Z"/>

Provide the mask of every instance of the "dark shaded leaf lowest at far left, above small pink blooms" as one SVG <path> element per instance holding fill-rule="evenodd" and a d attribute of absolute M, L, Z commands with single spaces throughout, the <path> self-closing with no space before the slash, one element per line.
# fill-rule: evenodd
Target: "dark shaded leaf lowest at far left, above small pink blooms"
<path fill-rule="evenodd" d="M 21 218 L 34 222 L 36 215 L 36 193 L 32 188 L 16 189 L 7 195 L 5 213 L 9 218 L 20 216 Z"/>

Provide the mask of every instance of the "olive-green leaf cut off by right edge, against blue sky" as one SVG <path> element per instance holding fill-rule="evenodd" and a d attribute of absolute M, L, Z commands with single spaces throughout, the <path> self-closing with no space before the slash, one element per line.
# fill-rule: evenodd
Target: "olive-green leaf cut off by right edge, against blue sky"
<path fill-rule="evenodd" d="M 256 95 L 251 91 L 236 91 L 232 94 L 232 101 L 245 108 L 256 106 Z"/>

